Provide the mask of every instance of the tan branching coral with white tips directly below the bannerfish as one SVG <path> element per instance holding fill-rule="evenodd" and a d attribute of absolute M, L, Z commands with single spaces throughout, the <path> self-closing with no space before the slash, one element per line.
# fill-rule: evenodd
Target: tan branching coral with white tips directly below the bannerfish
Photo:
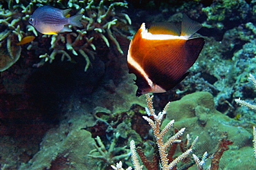
<path fill-rule="evenodd" d="M 158 115 L 156 115 L 156 113 L 154 111 L 153 102 L 152 102 L 153 96 L 150 97 L 148 94 L 146 94 L 146 98 L 147 98 L 146 111 L 147 111 L 148 116 L 143 116 L 143 118 L 152 127 L 154 137 L 156 140 L 156 144 L 158 147 L 158 153 L 161 158 L 161 169 L 163 169 L 163 170 L 174 169 L 174 167 L 176 167 L 176 164 L 178 162 L 180 162 L 181 160 L 184 160 L 185 158 L 188 158 L 188 155 L 192 152 L 192 147 L 194 147 L 196 141 L 198 140 L 198 137 L 196 137 L 194 142 L 192 142 L 190 148 L 187 151 L 185 151 L 184 153 L 182 153 L 181 155 L 179 155 L 177 158 L 175 158 L 174 160 L 172 160 L 170 162 L 170 160 L 168 159 L 167 148 L 170 147 L 174 143 L 181 142 L 181 140 L 179 140 L 179 137 L 183 134 L 183 132 L 185 131 L 185 128 L 181 129 L 175 135 L 173 135 L 171 138 L 169 138 L 166 142 L 164 142 L 165 134 L 167 133 L 167 131 L 169 131 L 172 128 L 172 126 L 174 124 L 174 120 L 172 120 L 161 130 L 162 120 L 163 120 L 164 115 L 166 114 L 167 108 L 170 103 L 168 103 L 165 106 L 165 108 L 163 109 L 163 112 L 158 113 Z M 130 147 L 131 147 L 131 157 L 132 157 L 132 161 L 134 163 L 134 168 L 136 170 L 143 169 L 143 165 L 140 165 L 140 162 L 138 161 L 138 156 L 136 154 L 136 149 L 135 149 L 136 147 L 135 147 L 134 140 L 131 140 Z M 156 164 L 156 166 L 158 166 L 158 164 Z M 154 168 L 157 168 L 157 167 L 154 167 Z"/>

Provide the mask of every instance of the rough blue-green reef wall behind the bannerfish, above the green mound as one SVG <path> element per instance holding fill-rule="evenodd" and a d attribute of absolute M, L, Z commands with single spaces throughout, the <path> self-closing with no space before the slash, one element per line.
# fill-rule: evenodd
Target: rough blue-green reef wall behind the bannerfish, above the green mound
<path fill-rule="evenodd" d="M 140 15 L 146 16 L 147 11 L 143 12 Z M 174 91 L 156 97 L 166 102 L 195 91 L 208 91 L 214 95 L 221 113 L 230 117 L 241 114 L 241 121 L 255 122 L 253 111 L 237 108 L 234 101 L 253 92 L 247 75 L 255 73 L 255 1 L 165 1 L 161 3 L 161 12 L 146 18 L 149 22 L 179 21 L 177 12 L 185 12 L 203 23 L 199 34 L 205 36 L 205 46 L 190 68 L 190 75 Z"/>

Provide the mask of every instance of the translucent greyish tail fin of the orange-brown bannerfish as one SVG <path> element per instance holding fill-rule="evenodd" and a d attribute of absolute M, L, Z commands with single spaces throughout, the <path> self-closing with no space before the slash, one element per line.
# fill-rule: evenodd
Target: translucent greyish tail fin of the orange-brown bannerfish
<path fill-rule="evenodd" d="M 183 14 L 183 19 L 181 23 L 181 36 L 186 36 L 189 38 L 201 27 L 201 23 L 198 23 L 190 19 L 187 15 Z"/>

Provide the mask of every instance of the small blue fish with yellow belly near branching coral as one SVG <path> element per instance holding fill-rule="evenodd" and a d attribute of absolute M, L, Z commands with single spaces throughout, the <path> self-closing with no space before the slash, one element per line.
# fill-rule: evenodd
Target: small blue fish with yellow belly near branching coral
<path fill-rule="evenodd" d="M 61 10 L 51 6 L 40 6 L 29 19 L 29 23 L 45 35 L 57 35 L 59 32 L 71 32 L 72 26 L 82 27 L 81 15 L 65 17 L 71 9 Z"/>

